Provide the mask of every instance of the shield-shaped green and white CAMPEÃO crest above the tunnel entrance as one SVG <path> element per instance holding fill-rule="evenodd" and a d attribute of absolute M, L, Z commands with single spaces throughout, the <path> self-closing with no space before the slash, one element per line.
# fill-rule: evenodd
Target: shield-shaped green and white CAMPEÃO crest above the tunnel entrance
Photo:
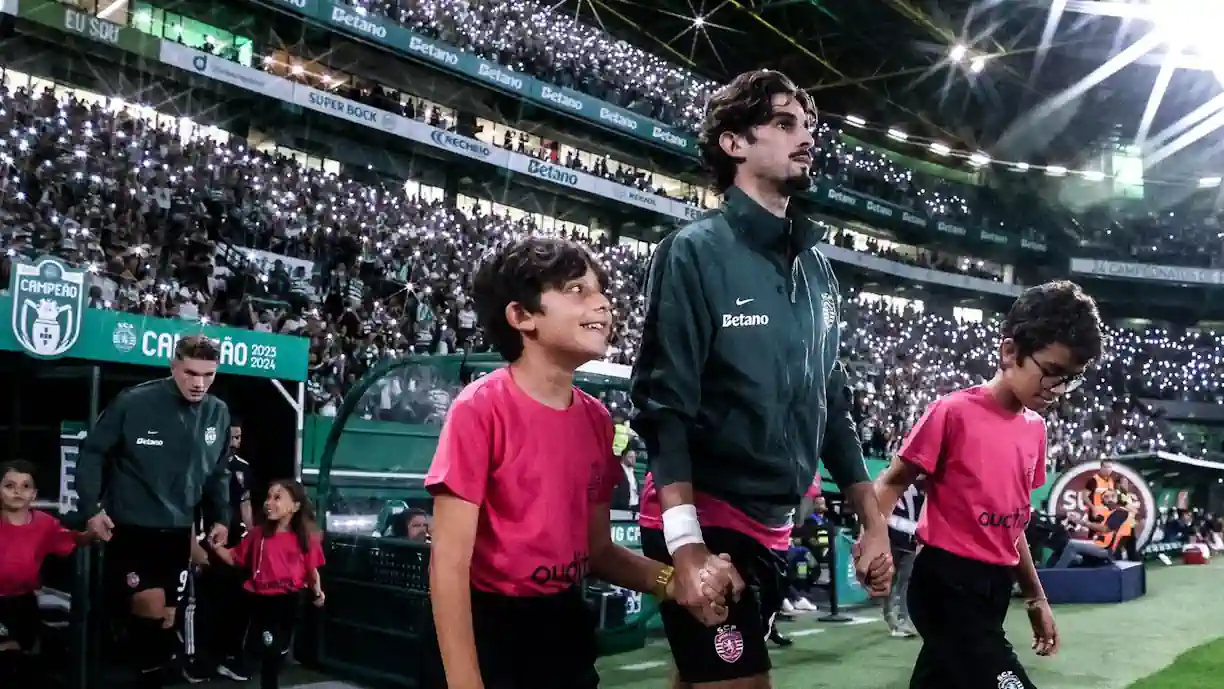
<path fill-rule="evenodd" d="M 13 263 L 12 334 L 33 356 L 62 356 L 81 337 L 84 270 L 55 258 Z"/>

